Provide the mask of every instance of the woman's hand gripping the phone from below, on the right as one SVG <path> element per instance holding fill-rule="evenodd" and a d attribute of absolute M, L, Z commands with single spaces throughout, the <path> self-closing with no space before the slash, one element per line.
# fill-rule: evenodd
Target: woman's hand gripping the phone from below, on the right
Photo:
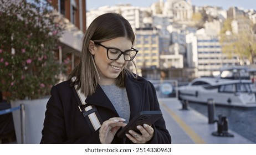
<path fill-rule="evenodd" d="M 132 142 L 137 144 L 143 144 L 150 141 L 150 139 L 152 139 L 154 130 L 151 126 L 144 124 L 143 127 L 137 126 L 137 129 L 142 133 L 142 135 L 140 135 L 139 133 L 136 133 L 133 130 L 130 130 L 129 131 L 130 134 L 128 133 L 125 134 L 126 137 L 129 138 Z"/>

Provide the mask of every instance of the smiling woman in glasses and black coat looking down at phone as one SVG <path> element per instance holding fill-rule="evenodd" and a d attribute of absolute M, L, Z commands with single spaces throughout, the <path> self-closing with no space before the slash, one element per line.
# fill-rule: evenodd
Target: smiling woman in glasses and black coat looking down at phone
<path fill-rule="evenodd" d="M 91 23 L 79 65 L 51 90 L 41 143 L 171 143 L 163 117 L 117 137 L 140 111 L 160 110 L 153 85 L 127 69 L 138 52 L 134 42 L 131 25 L 119 14 Z"/>

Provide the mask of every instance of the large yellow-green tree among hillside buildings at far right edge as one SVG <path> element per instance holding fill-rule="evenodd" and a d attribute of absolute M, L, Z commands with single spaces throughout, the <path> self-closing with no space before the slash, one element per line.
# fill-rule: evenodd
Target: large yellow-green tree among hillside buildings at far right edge
<path fill-rule="evenodd" d="M 239 56 L 244 61 L 249 60 L 254 64 L 254 56 L 256 53 L 256 35 L 253 31 L 253 25 L 248 24 L 249 19 L 240 17 L 239 19 L 227 19 L 221 30 L 220 43 L 223 53 L 231 56 L 233 54 Z M 238 30 L 232 29 L 232 22 L 244 25 Z"/>

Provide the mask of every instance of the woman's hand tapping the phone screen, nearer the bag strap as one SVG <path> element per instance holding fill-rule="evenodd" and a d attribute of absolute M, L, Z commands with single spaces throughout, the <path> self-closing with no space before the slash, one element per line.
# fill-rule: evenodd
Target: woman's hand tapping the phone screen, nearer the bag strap
<path fill-rule="evenodd" d="M 110 144 L 120 127 L 126 126 L 125 119 L 113 117 L 103 122 L 100 127 L 100 142 L 102 144 Z"/>

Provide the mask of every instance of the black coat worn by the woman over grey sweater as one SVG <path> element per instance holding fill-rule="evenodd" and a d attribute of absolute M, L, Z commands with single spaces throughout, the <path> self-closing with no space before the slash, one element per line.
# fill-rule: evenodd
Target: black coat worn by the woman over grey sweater
<path fill-rule="evenodd" d="M 68 80 L 52 87 L 40 143 L 100 143 L 99 129 L 91 132 L 78 108 L 70 83 L 71 80 Z M 130 120 L 140 111 L 160 110 L 155 88 L 149 81 L 140 76 L 137 79 L 127 76 L 125 87 L 130 103 Z M 111 117 L 119 117 L 100 86 L 85 101 L 96 106 L 103 121 Z M 149 143 L 171 143 L 171 136 L 166 130 L 163 117 L 152 127 L 155 132 Z M 123 143 L 123 140 L 116 135 L 112 143 Z M 132 142 L 126 138 L 126 143 Z"/>

